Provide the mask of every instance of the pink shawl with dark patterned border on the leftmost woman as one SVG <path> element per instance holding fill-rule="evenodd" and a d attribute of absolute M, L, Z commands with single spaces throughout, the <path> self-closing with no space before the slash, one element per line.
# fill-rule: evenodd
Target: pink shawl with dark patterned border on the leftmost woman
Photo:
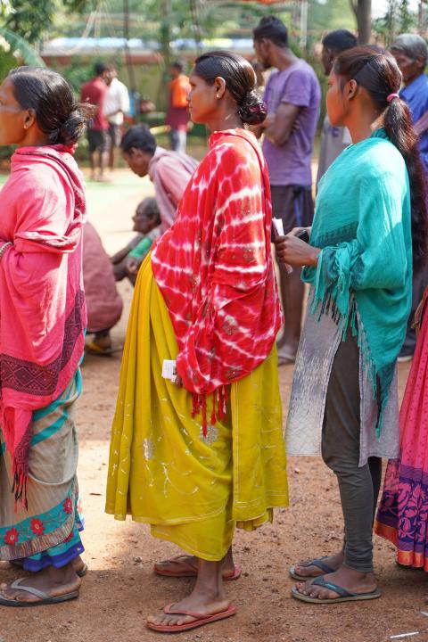
<path fill-rule="evenodd" d="M 26 503 L 32 413 L 70 383 L 84 348 L 83 177 L 63 145 L 21 147 L 1 191 L 0 426 Z"/>

